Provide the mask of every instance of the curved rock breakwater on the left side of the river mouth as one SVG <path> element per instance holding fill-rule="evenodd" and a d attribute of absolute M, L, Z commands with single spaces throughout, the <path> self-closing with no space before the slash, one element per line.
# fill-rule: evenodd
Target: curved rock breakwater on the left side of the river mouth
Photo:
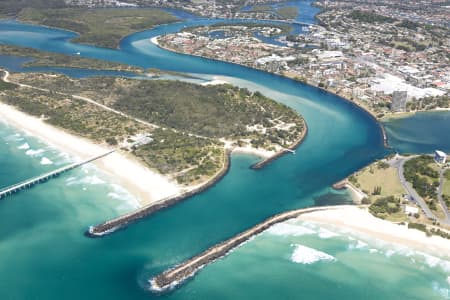
<path fill-rule="evenodd" d="M 89 229 L 85 232 L 85 235 L 88 237 L 93 237 L 93 238 L 105 236 L 107 234 L 115 232 L 118 229 L 128 226 L 130 223 L 136 222 L 136 221 L 138 221 L 142 218 L 145 218 L 157 211 L 166 209 L 178 202 L 186 200 L 198 193 L 201 193 L 201 192 L 209 189 L 210 187 L 215 185 L 220 179 L 222 179 L 222 177 L 224 177 L 228 173 L 228 171 L 230 169 L 230 151 L 226 151 L 224 159 L 225 159 L 224 167 L 204 185 L 202 185 L 198 188 L 192 189 L 190 191 L 181 193 L 179 195 L 174 195 L 174 196 L 170 196 L 170 197 L 161 199 L 157 202 L 146 205 L 136 211 L 122 215 L 122 216 L 112 219 L 110 221 L 106 221 L 104 223 L 101 223 L 101 224 L 98 224 L 95 226 L 90 226 Z"/>

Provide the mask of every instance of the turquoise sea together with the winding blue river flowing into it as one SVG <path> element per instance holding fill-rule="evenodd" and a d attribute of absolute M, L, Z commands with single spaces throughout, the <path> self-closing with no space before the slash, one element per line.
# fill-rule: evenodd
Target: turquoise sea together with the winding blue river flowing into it
<path fill-rule="evenodd" d="M 309 127 L 295 155 L 260 171 L 249 169 L 257 158 L 235 155 L 213 188 L 102 239 L 83 232 L 133 209 L 135 199 L 94 167 L 1 200 L 1 298 L 448 299 L 449 262 L 300 221 L 257 236 L 169 294 L 149 291 L 150 277 L 271 215 L 348 201 L 329 186 L 387 151 L 374 120 L 334 95 L 150 42 L 212 22 L 163 25 L 123 39 L 117 50 L 73 44 L 74 34 L 62 30 L 0 22 L 0 43 L 217 77 L 289 105 Z M 76 158 L 0 122 L 0 160 L 0 183 L 7 186 Z"/>

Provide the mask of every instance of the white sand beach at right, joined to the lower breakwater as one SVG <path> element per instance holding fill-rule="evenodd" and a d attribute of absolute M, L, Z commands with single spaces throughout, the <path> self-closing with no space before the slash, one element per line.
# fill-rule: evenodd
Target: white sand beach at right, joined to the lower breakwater
<path fill-rule="evenodd" d="M 345 206 L 338 209 L 306 213 L 300 220 L 348 228 L 379 240 L 405 245 L 409 248 L 450 257 L 450 240 L 427 237 L 424 232 L 404 225 L 375 218 L 366 209 Z"/>

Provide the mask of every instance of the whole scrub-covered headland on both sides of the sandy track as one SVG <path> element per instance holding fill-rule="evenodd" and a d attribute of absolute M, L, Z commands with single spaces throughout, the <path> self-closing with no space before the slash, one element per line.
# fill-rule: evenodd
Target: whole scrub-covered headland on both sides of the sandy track
<path fill-rule="evenodd" d="M 0 96 L 2 102 L 74 134 L 131 151 L 149 167 L 181 184 L 203 182 L 222 169 L 226 157 L 219 136 L 248 138 L 252 144 L 272 145 L 277 141 L 284 145 L 299 138 L 304 130 L 303 119 L 286 106 L 259 93 L 227 85 L 202 87 L 115 77 L 77 80 L 33 73 L 11 74 L 10 78 L 48 91 L 25 87 L 7 90 Z M 170 96 L 172 93 L 175 95 Z M 73 94 L 131 116 L 105 110 Z M 159 127 L 143 124 L 132 116 Z M 293 122 L 293 126 L 277 127 L 283 121 Z M 265 133 L 246 129 L 255 122 L 272 127 Z M 126 141 L 138 133 L 150 134 L 153 141 L 139 147 L 127 146 Z M 206 136 L 197 136 L 199 133 Z"/>

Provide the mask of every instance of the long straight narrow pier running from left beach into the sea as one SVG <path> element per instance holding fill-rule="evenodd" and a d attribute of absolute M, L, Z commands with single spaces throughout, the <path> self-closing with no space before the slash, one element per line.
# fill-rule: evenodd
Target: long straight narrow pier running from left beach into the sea
<path fill-rule="evenodd" d="M 92 161 L 95 161 L 97 159 L 105 157 L 105 156 L 113 153 L 114 151 L 116 151 L 116 150 L 108 151 L 106 153 L 103 153 L 101 155 L 97 155 L 97 156 L 89 158 L 87 160 L 84 160 L 84 161 L 81 161 L 81 162 L 76 162 L 76 163 L 70 164 L 68 166 L 56 169 L 54 171 L 42 174 L 40 176 L 33 177 L 33 178 L 30 178 L 30 179 L 24 180 L 22 182 L 19 182 L 19 183 L 10 185 L 8 187 L 5 187 L 3 189 L 0 189 L 0 199 L 3 199 L 5 197 L 10 196 L 10 195 L 12 195 L 14 193 L 17 193 L 19 191 L 22 191 L 22 190 L 25 190 L 25 189 L 29 189 L 29 188 L 33 187 L 34 185 L 42 183 L 42 182 L 46 182 L 46 181 L 50 180 L 51 178 L 58 177 L 62 173 L 65 173 L 67 171 L 70 171 L 70 170 L 73 170 L 75 168 L 78 168 L 78 167 L 80 167 L 82 165 L 88 164 L 88 163 L 90 163 Z"/>

